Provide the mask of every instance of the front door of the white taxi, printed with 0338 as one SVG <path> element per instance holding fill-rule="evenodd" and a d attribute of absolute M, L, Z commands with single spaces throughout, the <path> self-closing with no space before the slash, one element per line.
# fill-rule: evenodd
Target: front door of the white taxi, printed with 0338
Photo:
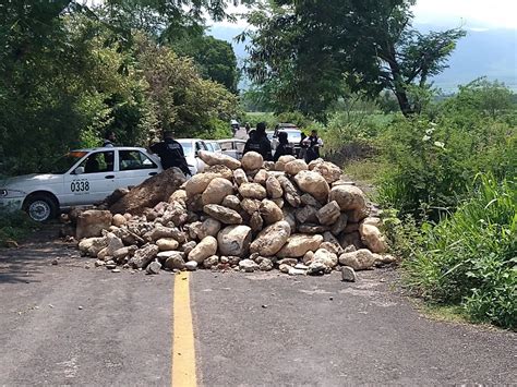
<path fill-rule="evenodd" d="M 115 149 L 93 152 L 64 176 L 61 205 L 91 205 L 104 201 L 116 189 Z"/>

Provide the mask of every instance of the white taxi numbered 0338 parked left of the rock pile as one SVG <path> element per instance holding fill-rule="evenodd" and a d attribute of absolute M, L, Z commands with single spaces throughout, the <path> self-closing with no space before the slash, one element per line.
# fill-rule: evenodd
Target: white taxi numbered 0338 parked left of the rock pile
<path fill-rule="evenodd" d="M 45 221 L 60 209 L 92 205 L 116 189 L 137 185 L 163 171 L 156 155 L 137 147 L 106 147 L 70 152 L 48 173 L 0 181 L 0 210 L 23 209 Z"/>

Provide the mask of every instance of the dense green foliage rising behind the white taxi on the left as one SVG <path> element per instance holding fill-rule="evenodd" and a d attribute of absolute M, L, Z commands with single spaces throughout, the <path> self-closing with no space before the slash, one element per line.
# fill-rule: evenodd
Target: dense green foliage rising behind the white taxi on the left
<path fill-rule="evenodd" d="M 70 148 L 99 145 L 107 130 L 120 144 L 144 146 L 165 129 L 224 133 L 223 122 L 237 112 L 235 89 L 205 78 L 216 76 L 200 73 L 195 58 L 160 46 L 153 28 L 119 23 L 130 5 L 161 15 L 148 20 L 155 29 L 201 23 L 195 10 L 219 14 L 225 5 L 193 3 L 188 14 L 163 1 L 108 1 L 93 10 L 65 0 L 0 4 L 0 173 L 44 171 Z M 172 17 L 164 7 L 181 12 Z M 235 75 L 228 82 L 235 85 Z"/>

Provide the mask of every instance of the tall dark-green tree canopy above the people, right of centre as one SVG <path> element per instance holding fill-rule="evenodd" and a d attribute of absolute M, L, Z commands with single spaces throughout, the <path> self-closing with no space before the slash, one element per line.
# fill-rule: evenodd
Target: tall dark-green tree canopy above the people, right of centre
<path fill-rule="evenodd" d="M 284 109 L 322 114 L 350 92 L 395 94 L 400 110 L 420 110 L 408 87 L 425 87 L 446 68 L 460 29 L 421 34 L 411 28 L 411 0 L 272 0 L 250 12 L 255 26 L 249 75 L 277 89 Z M 344 86 L 347 87 L 344 87 Z"/>

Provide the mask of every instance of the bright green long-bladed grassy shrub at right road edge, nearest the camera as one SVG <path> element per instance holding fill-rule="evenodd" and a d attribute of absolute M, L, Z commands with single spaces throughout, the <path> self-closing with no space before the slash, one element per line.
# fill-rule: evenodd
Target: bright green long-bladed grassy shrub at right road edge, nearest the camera
<path fill-rule="evenodd" d="M 470 199 L 421 235 L 402 262 L 413 290 L 474 321 L 517 327 L 516 180 L 482 177 Z"/>

